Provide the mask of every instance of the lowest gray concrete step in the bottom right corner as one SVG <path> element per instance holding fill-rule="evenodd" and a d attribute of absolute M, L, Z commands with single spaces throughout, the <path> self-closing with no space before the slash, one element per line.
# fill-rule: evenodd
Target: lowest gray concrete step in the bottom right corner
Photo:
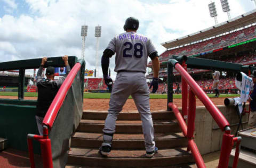
<path fill-rule="evenodd" d="M 229 157 L 229 166 L 233 166 L 234 157 L 235 157 L 236 149 L 232 149 L 230 157 Z M 241 149 L 237 168 L 255 168 L 256 167 L 256 153 L 251 152 L 250 150 Z"/>

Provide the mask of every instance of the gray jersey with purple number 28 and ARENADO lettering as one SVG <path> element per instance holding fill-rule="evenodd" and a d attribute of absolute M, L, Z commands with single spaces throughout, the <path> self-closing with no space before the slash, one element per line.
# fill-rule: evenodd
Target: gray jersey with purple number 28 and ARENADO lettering
<path fill-rule="evenodd" d="M 116 53 L 115 72 L 137 71 L 146 73 L 148 56 L 156 52 L 151 40 L 136 32 L 124 32 L 114 37 L 108 47 Z"/>

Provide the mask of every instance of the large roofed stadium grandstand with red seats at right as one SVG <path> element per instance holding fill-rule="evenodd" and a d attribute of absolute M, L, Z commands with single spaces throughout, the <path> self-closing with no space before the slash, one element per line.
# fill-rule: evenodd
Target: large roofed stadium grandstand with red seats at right
<path fill-rule="evenodd" d="M 166 48 L 166 51 L 159 55 L 161 62 L 159 78 L 162 80 L 158 87 L 158 93 L 164 91 L 164 83 L 167 79 L 167 64 L 164 62 L 169 60 L 172 55 L 186 55 L 254 66 L 256 64 L 256 10 L 190 35 L 166 41 L 162 43 L 162 46 Z M 153 78 L 151 61 L 147 66 L 149 68 L 147 79 L 150 80 Z M 188 69 L 188 72 L 203 90 L 207 93 L 213 91 L 213 71 Z M 177 89 L 181 77 L 175 70 L 174 79 L 176 82 L 173 88 Z M 236 92 L 234 72 L 221 73 L 219 89 L 222 93 Z"/>

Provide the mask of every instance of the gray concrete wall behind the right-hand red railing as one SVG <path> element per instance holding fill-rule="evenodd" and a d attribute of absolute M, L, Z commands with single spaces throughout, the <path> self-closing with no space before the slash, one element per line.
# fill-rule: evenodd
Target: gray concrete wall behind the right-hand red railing
<path fill-rule="evenodd" d="M 231 134 L 235 135 L 239 119 L 234 106 L 217 106 L 230 124 Z M 246 105 L 246 109 L 248 104 Z M 179 110 L 181 110 L 179 108 Z M 248 113 L 242 116 L 243 129 L 247 128 Z M 241 127 L 239 128 L 241 130 Z M 196 108 L 195 142 L 201 155 L 212 153 L 221 149 L 223 131 L 213 120 L 205 107 Z"/>

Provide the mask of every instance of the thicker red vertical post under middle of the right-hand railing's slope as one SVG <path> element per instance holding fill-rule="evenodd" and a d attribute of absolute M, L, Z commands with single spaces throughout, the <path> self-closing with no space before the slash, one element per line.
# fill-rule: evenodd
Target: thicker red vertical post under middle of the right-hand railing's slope
<path fill-rule="evenodd" d="M 193 91 L 189 90 L 189 102 L 188 102 L 188 139 L 192 139 L 195 130 L 195 119 L 196 119 L 196 96 Z"/>

